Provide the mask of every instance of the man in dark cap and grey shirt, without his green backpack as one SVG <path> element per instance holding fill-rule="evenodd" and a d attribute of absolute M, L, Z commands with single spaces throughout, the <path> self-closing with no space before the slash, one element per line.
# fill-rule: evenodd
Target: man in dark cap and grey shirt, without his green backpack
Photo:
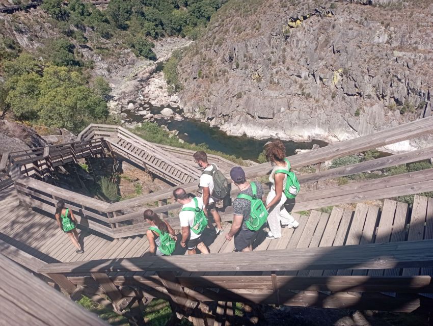
<path fill-rule="evenodd" d="M 245 171 L 241 167 L 234 167 L 230 170 L 230 177 L 234 184 L 239 188 L 239 194 L 253 196 L 251 183 L 247 182 Z M 257 188 L 257 198 L 263 198 L 263 186 L 260 182 L 253 181 Z M 251 202 L 247 199 L 236 198 L 233 200 L 233 223 L 230 231 L 226 234 L 227 240 L 234 236 L 234 247 L 236 251 L 252 251 L 253 242 L 257 231 L 247 228 L 245 221 L 250 217 Z"/>

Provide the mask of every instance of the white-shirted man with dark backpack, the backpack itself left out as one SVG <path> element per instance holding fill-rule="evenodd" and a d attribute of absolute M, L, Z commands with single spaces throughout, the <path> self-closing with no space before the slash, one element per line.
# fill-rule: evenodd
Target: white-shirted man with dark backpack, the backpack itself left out
<path fill-rule="evenodd" d="M 205 171 L 212 171 L 213 167 L 211 164 L 207 161 L 207 155 L 203 151 L 198 151 L 194 153 L 193 155 L 194 159 L 196 160 L 196 163 L 199 165 L 199 167 L 203 168 L 203 172 Z M 216 167 L 216 165 L 215 165 Z M 218 169 L 218 167 L 217 167 Z M 213 220 L 215 221 L 215 224 L 217 225 L 215 227 L 215 232 L 220 233 L 220 231 L 223 229 L 221 226 L 221 216 L 218 213 L 217 207 L 215 205 L 215 200 L 212 198 L 212 192 L 213 192 L 213 178 L 209 174 L 202 173 L 200 176 L 200 187 L 203 188 L 203 204 L 204 207 L 204 213 L 207 216 L 207 210 L 210 210 Z"/>

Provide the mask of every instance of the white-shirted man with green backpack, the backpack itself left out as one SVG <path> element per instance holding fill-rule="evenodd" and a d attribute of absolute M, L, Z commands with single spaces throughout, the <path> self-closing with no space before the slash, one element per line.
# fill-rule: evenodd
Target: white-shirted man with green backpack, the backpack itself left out
<path fill-rule="evenodd" d="M 177 188 L 173 191 L 174 200 L 182 205 L 182 208 L 192 207 L 196 208 L 194 200 L 188 198 L 183 188 Z M 203 209 L 203 200 L 200 197 L 197 198 L 198 207 Z M 182 239 L 180 240 L 180 246 L 188 249 L 188 255 L 195 255 L 196 248 L 200 250 L 202 254 L 208 254 L 209 250 L 203 243 L 201 234 L 196 234 L 191 231 L 194 226 L 195 213 L 193 211 L 181 211 L 179 213 L 180 227 L 182 228 Z"/>

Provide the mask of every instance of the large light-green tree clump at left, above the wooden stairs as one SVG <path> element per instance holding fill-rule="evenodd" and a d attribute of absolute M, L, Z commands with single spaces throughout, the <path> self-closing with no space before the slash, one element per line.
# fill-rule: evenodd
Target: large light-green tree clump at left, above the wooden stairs
<path fill-rule="evenodd" d="M 17 119 L 77 132 L 94 119 L 108 116 L 106 103 L 68 67 L 47 66 L 23 53 L 6 61 L 5 103 Z"/>

